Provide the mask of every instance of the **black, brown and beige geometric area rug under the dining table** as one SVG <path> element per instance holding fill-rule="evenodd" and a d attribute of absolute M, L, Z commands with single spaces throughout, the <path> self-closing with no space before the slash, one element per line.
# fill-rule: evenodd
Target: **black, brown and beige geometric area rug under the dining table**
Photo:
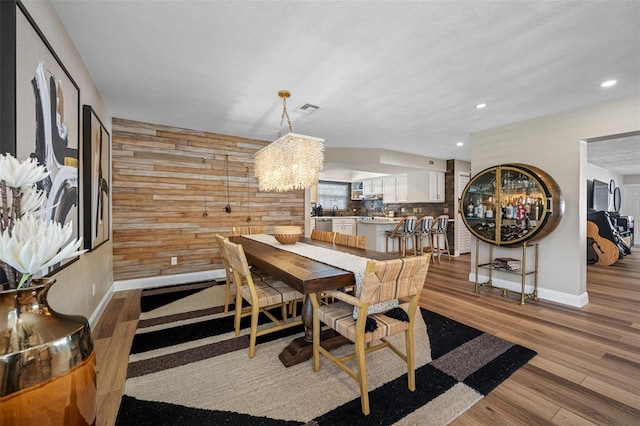
<path fill-rule="evenodd" d="M 311 361 L 282 365 L 278 354 L 301 327 L 258 338 L 249 359 L 249 324 L 234 335 L 223 297 L 223 285 L 208 284 L 143 292 L 117 425 L 445 425 L 536 355 L 420 309 L 416 391 L 400 358 L 370 354 L 364 416 L 357 382 L 328 360 L 318 372 Z"/>

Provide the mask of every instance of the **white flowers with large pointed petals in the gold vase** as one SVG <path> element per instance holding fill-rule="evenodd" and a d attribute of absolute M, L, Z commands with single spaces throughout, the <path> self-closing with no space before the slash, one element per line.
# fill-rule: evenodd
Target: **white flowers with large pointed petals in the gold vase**
<path fill-rule="evenodd" d="M 36 184 L 48 175 L 33 158 L 0 155 L 0 267 L 10 289 L 28 286 L 33 274 L 86 251 L 78 250 L 82 238 L 67 244 L 70 222 L 62 226 L 39 217 L 46 194 Z"/>

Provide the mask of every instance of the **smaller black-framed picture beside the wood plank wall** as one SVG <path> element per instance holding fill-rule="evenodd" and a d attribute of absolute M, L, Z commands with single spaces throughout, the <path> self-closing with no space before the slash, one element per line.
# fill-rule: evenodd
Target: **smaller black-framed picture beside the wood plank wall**
<path fill-rule="evenodd" d="M 91 107 L 82 106 L 84 248 L 92 251 L 111 233 L 111 136 Z"/>

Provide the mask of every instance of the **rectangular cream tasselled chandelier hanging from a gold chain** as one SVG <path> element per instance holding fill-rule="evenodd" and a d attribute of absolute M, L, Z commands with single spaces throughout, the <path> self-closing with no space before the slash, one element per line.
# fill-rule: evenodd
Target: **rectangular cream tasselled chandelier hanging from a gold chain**
<path fill-rule="evenodd" d="M 286 90 L 282 98 L 282 118 L 278 139 L 255 154 L 255 172 L 260 191 L 286 192 L 315 185 L 324 161 L 324 139 L 293 133 L 287 112 Z M 282 135 L 282 123 L 287 119 L 289 133 Z"/>

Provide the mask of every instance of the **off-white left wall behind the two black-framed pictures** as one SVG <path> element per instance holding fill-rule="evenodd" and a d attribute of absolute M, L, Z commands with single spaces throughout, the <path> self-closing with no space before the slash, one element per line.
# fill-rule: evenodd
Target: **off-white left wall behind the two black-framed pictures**
<path fill-rule="evenodd" d="M 102 99 L 51 2 L 23 0 L 23 3 L 79 86 L 80 104 L 91 105 L 111 134 L 111 111 Z M 80 124 L 82 125 L 82 122 Z M 81 211 L 80 217 L 82 216 Z M 82 225 L 79 229 L 83 229 Z M 83 315 L 94 325 L 98 311 L 107 301 L 113 284 L 112 252 L 112 243 L 109 240 L 97 250 L 80 256 L 78 261 L 55 274 L 57 282 L 51 288 L 48 298 L 51 306 L 61 313 Z"/>

